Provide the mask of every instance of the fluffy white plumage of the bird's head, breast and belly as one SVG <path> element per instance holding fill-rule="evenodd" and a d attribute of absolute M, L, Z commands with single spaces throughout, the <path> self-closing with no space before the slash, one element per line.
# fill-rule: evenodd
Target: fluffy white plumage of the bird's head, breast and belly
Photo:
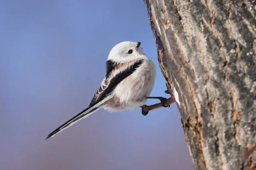
<path fill-rule="evenodd" d="M 123 79 L 113 90 L 113 102 L 117 105 L 103 105 L 109 111 L 133 110 L 145 104 L 146 97 L 151 94 L 156 77 L 156 68 L 154 63 L 146 57 L 141 48 L 136 48 L 137 42 L 121 42 L 114 46 L 108 56 L 108 60 L 116 62 L 129 62 L 130 65 L 140 59 L 144 62 L 133 74 Z M 132 54 L 128 54 L 133 50 Z M 127 67 L 130 67 L 128 65 Z M 120 68 L 120 72 L 127 67 Z M 112 101 L 110 99 L 110 101 Z M 108 102 L 109 103 L 109 102 Z"/>

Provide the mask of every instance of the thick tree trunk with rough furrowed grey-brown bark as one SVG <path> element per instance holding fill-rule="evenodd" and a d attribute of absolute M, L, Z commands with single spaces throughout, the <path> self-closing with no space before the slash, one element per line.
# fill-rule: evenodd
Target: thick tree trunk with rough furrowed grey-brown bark
<path fill-rule="evenodd" d="M 144 2 L 194 168 L 256 169 L 255 0 Z"/>

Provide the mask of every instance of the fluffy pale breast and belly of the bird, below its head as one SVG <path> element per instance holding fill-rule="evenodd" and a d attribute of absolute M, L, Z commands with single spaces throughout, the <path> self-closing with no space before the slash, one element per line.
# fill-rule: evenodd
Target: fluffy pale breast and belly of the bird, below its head
<path fill-rule="evenodd" d="M 156 78 L 156 68 L 150 59 L 145 59 L 143 64 L 133 74 L 122 80 L 113 95 L 119 103 L 119 109 L 135 109 L 147 101 L 151 94 Z"/>

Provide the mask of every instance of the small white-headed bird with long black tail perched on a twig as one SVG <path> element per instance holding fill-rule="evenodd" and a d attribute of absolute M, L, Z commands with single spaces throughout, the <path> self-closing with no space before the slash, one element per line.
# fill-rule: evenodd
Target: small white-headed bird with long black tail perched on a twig
<path fill-rule="evenodd" d="M 122 111 L 141 107 L 151 94 L 156 77 L 154 63 L 140 48 L 140 42 L 125 41 L 115 45 L 107 59 L 106 76 L 88 108 L 50 133 L 55 136 L 82 118 L 98 111 Z"/>

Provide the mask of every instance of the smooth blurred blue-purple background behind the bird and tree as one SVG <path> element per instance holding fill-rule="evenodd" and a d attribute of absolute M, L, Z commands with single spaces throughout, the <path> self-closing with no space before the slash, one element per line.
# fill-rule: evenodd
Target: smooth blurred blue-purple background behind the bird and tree
<path fill-rule="evenodd" d="M 87 108 L 122 41 L 142 42 L 151 96 L 169 97 L 143 0 L 0 1 L 0 170 L 193 169 L 175 103 L 100 110 L 44 140 Z"/>

